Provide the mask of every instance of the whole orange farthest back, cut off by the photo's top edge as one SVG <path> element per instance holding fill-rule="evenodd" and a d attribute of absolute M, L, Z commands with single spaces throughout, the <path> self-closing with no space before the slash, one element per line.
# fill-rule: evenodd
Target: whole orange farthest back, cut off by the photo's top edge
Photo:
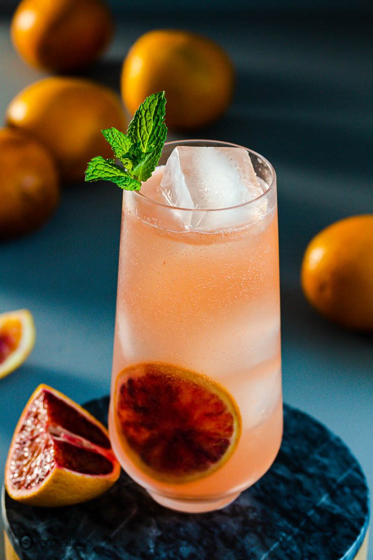
<path fill-rule="evenodd" d="M 102 0 L 22 0 L 11 23 L 18 54 L 48 71 L 87 66 L 112 35 L 111 15 Z"/>

